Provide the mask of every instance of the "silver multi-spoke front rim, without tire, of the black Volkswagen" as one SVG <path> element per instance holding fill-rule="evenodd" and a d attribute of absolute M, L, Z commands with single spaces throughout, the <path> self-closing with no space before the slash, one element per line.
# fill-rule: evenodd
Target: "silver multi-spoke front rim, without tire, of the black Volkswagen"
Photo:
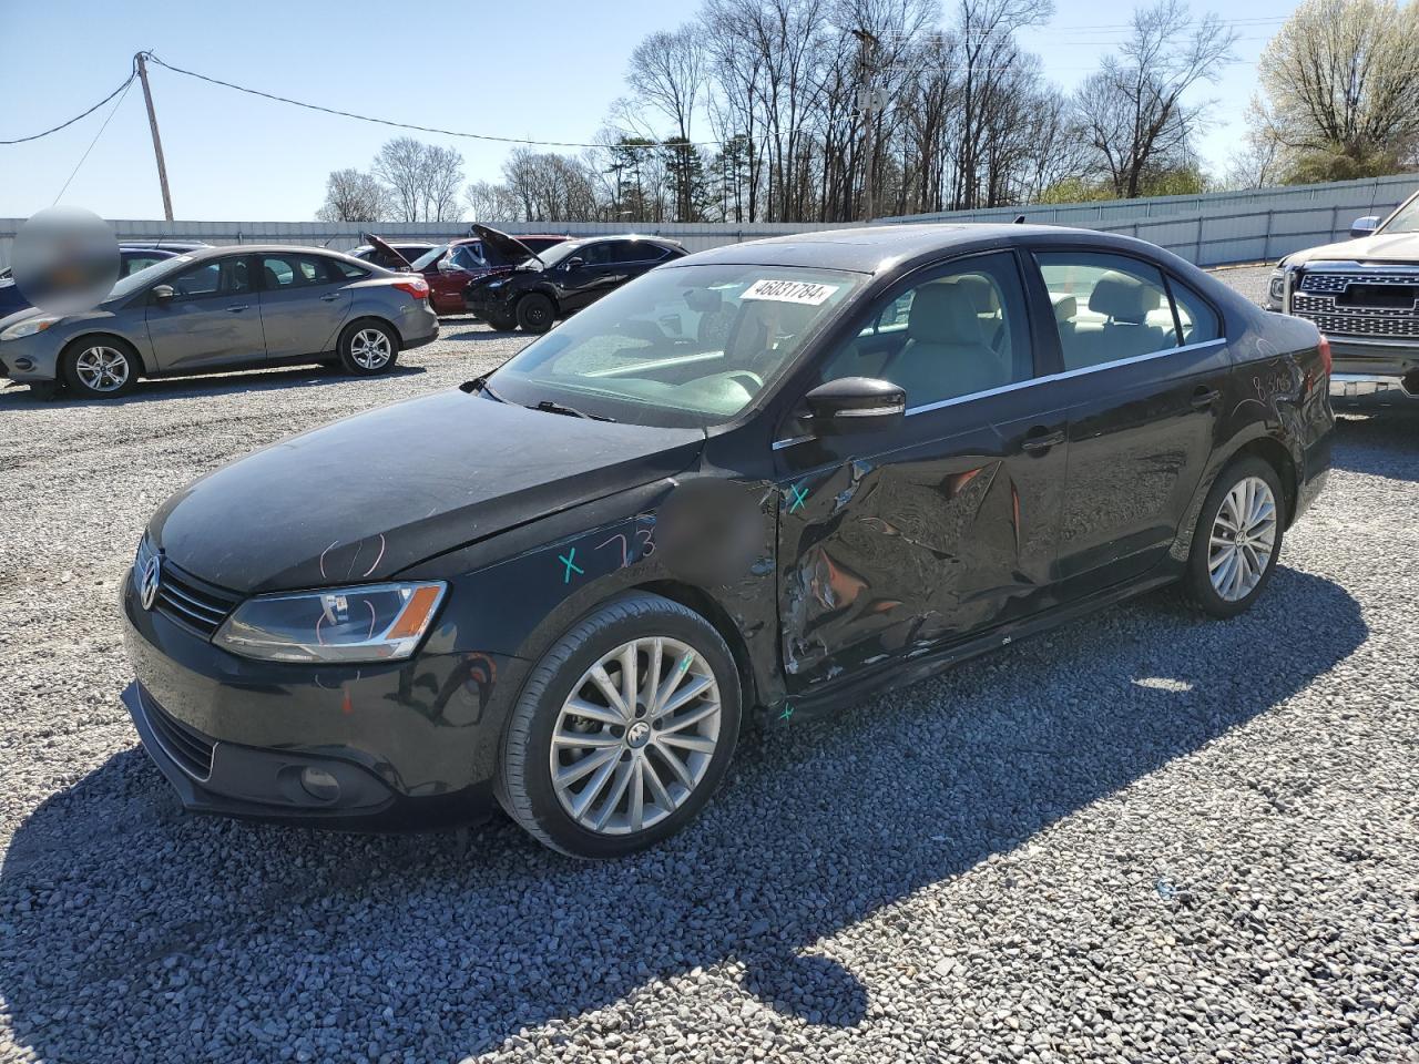
<path fill-rule="evenodd" d="M 680 809 L 719 743 L 719 685 L 687 643 L 651 636 L 592 665 L 552 731 L 562 809 L 597 834 L 634 834 Z"/>

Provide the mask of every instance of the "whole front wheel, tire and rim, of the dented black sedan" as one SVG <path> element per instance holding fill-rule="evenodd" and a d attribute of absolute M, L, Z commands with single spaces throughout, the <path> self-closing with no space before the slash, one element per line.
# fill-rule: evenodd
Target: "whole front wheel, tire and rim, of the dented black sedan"
<path fill-rule="evenodd" d="M 622 661 L 633 661 L 629 716 L 593 677 L 600 668 L 624 702 Z M 656 694 L 647 680 L 653 668 Z M 663 715 L 657 695 L 670 706 Z M 504 731 L 498 800 L 534 838 L 563 854 L 610 858 L 643 850 L 710 800 L 734 756 L 739 716 L 739 674 L 710 621 L 658 594 L 613 599 L 573 624 L 528 677 Z M 583 735 L 590 745 L 578 746 Z M 562 783 L 553 780 L 553 762 Z"/>

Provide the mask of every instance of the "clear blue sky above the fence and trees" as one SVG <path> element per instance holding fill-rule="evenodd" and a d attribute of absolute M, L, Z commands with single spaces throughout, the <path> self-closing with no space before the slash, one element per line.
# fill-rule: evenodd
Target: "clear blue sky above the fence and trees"
<path fill-rule="evenodd" d="M 624 92 L 630 50 L 688 18 L 698 0 L 541 0 L 308 4 L 0 0 L 0 139 L 84 111 L 126 77 L 135 51 L 314 104 L 427 126 L 586 140 Z M 1242 62 L 1198 96 L 1220 102 L 1202 139 L 1222 167 L 1243 132 L 1256 60 L 1294 3 L 1195 0 L 1239 24 Z M 1131 9 L 1057 0 L 1049 28 L 1022 35 L 1070 88 L 1124 33 Z M 244 96 L 155 68 L 179 218 L 308 221 L 325 176 L 365 167 L 397 131 Z M 0 217 L 54 201 L 114 104 L 27 145 L 0 146 Z M 495 180 L 507 148 L 420 135 L 463 152 L 470 179 Z M 64 194 L 111 218 L 162 217 L 142 94 L 126 95 Z"/>

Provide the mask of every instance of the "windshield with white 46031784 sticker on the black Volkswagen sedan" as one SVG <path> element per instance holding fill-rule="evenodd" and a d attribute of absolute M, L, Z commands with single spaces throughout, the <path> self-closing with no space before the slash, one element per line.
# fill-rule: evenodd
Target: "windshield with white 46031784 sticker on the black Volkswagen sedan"
<path fill-rule="evenodd" d="M 864 281 L 800 267 L 651 270 L 525 348 L 488 386 L 502 401 L 616 421 L 721 424 L 788 372 Z"/>

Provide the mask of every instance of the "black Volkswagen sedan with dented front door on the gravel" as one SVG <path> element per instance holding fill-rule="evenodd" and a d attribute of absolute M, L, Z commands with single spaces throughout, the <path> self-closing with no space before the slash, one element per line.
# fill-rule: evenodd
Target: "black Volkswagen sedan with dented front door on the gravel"
<path fill-rule="evenodd" d="M 749 721 L 1162 584 L 1246 610 L 1325 481 L 1328 375 L 1308 322 L 1117 235 L 701 253 L 169 499 L 122 594 L 125 699 L 192 809 L 501 803 L 624 854 L 695 816 Z"/>

